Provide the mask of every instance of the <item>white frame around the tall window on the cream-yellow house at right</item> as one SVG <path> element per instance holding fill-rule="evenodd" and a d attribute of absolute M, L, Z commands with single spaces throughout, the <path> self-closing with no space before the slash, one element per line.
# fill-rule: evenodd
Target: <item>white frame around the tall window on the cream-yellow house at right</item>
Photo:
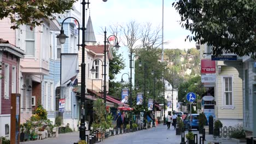
<path fill-rule="evenodd" d="M 231 91 L 227 91 L 227 92 L 231 92 L 231 97 L 232 97 L 232 101 L 231 101 L 231 105 L 226 105 L 226 95 L 225 95 L 225 80 L 226 78 L 231 78 Z M 223 75 L 222 76 L 222 109 L 235 109 L 234 106 L 234 75 Z"/>

